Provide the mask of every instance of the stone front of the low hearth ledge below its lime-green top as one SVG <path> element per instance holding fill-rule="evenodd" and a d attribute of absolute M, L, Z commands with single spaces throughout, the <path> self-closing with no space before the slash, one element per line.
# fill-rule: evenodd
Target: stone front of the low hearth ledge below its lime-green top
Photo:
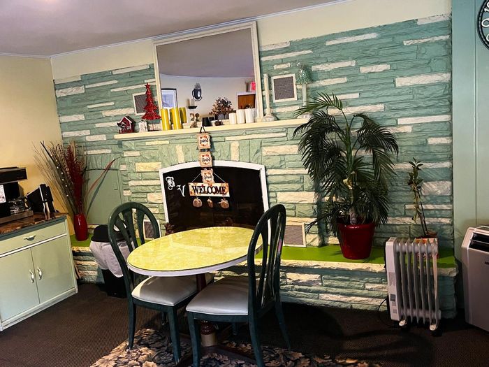
<path fill-rule="evenodd" d="M 74 247 L 73 258 L 82 282 L 103 283 L 102 273 L 88 247 Z M 379 264 L 353 264 L 282 260 L 280 289 L 284 302 L 377 310 L 387 296 L 386 271 Z M 247 273 L 244 264 L 215 273 Z M 441 315 L 455 317 L 455 268 L 439 268 L 438 289 Z M 386 310 L 386 303 L 380 306 Z"/>

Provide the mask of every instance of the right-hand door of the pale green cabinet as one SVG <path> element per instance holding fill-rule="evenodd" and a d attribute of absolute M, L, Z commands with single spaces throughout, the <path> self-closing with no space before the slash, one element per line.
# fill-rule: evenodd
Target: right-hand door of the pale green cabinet
<path fill-rule="evenodd" d="M 31 251 L 41 303 L 75 287 L 71 248 L 66 236 L 32 247 Z"/>

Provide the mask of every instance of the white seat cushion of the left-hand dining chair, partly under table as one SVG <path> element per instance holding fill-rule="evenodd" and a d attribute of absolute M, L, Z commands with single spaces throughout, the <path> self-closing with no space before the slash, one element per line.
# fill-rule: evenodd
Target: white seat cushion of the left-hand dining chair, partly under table
<path fill-rule="evenodd" d="M 207 283 L 212 278 L 212 274 L 205 274 Z M 196 292 L 195 275 L 184 277 L 149 277 L 134 288 L 132 296 L 140 301 L 174 306 Z"/>

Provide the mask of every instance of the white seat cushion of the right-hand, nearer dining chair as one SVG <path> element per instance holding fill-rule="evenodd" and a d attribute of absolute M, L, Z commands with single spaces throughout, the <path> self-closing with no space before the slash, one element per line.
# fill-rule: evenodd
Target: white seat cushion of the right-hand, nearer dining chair
<path fill-rule="evenodd" d="M 248 315 L 248 278 L 226 277 L 200 291 L 187 311 L 207 315 Z"/>

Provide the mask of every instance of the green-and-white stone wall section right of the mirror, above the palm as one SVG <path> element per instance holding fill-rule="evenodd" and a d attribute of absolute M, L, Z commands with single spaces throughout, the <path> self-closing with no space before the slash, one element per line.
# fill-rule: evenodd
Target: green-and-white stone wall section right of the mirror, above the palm
<path fill-rule="evenodd" d="M 298 24 L 293 24 L 298 26 Z M 453 247 L 451 138 L 451 20 L 440 15 L 381 27 L 261 46 L 261 72 L 270 77 L 309 66 L 307 96 L 334 93 L 349 113 L 365 113 L 395 133 L 400 147 L 388 224 L 390 236 L 417 236 L 411 225 L 407 172 L 413 157 L 424 161 L 421 178 L 425 215 L 442 246 Z M 279 119 L 293 117 L 302 103 L 272 103 Z M 270 99 L 271 100 L 271 99 Z M 263 102 L 265 103 L 265 101 Z"/>

